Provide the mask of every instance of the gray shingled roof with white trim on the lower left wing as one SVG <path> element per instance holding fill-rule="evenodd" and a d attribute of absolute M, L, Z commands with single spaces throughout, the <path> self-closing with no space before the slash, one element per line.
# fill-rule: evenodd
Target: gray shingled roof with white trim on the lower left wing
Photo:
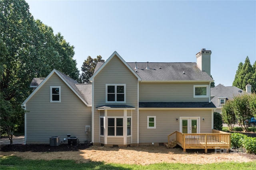
<path fill-rule="evenodd" d="M 36 94 L 36 92 L 44 85 L 45 82 L 54 74 L 56 73 L 62 80 L 63 82 L 82 100 L 86 106 L 92 106 L 92 84 L 84 84 L 86 87 L 79 86 L 78 82 L 69 76 L 66 76 L 62 72 L 59 72 L 58 70 L 52 70 L 50 74 L 42 80 L 42 82 L 37 86 L 37 88 L 28 96 L 28 98 L 22 103 L 21 106 L 26 106 L 26 103 Z M 33 79 L 37 80 L 37 79 Z M 87 90 L 87 91 L 86 91 Z M 86 92 L 85 92 L 86 91 Z M 87 96 L 87 94 L 89 96 Z"/>

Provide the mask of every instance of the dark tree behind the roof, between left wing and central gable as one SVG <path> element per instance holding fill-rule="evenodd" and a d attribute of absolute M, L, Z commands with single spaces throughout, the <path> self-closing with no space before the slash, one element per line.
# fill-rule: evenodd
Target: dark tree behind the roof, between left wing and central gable
<path fill-rule="evenodd" d="M 90 56 L 87 57 L 81 67 L 82 74 L 80 75 L 80 79 L 82 83 L 90 83 L 89 78 L 94 73 L 95 67 L 98 62 L 104 62 L 100 55 L 98 55 L 96 59 L 92 59 L 92 57 Z"/>

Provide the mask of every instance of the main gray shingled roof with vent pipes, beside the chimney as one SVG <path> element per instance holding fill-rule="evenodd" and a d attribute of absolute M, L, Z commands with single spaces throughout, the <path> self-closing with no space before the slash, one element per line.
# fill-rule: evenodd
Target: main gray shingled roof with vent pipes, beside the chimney
<path fill-rule="evenodd" d="M 98 62 L 94 71 L 97 74 L 104 62 Z M 141 82 L 200 82 L 214 80 L 204 71 L 201 71 L 196 63 L 127 63 L 132 72 L 141 78 Z M 146 69 L 148 64 L 148 68 Z"/>

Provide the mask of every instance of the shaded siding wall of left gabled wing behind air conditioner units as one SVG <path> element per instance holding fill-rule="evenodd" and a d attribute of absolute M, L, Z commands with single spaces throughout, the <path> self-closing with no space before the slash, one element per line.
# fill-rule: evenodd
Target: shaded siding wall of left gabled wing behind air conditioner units
<path fill-rule="evenodd" d="M 61 86 L 61 102 L 50 102 L 50 86 Z M 26 103 L 26 143 L 49 144 L 49 138 L 67 134 L 78 137 L 80 143 L 88 139 L 85 126 L 92 125 L 91 107 L 87 107 L 74 92 L 54 73 Z M 66 142 L 67 143 L 67 142 Z"/>

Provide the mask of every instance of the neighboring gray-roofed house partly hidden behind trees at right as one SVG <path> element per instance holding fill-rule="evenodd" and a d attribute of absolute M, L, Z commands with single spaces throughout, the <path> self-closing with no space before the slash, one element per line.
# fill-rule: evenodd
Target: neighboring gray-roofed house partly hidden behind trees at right
<path fill-rule="evenodd" d="M 221 113 L 222 106 L 226 103 L 227 100 L 233 99 L 234 96 L 251 93 L 251 85 L 246 85 L 246 91 L 237 88 L 236 86 L 223 86 L 218 84 L 218 86 L 211 88 L 211 102 L 216 106 L 214 112 Z"/>

